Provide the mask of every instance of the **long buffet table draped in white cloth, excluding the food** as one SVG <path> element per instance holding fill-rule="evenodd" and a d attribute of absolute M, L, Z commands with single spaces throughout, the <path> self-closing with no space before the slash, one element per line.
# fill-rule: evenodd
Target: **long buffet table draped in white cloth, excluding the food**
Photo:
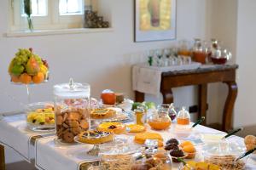
<path fill-rule="evenodd" d="M 0 143 L 1 148 L 10 147 L 20 154 L 26 161 L 34 160 L 35 167 L 42 170 L 85 170 L 92 165 L 99 164 L 99 157 L 86 155 L 86 150 L 90 150 L 90 144 L 61 144 L 55 139 L 54 133 L 34 133 L 26 128 L 24 114 L 13 116 L 3 116 L 0 120 Z M 173 138 L 172 127 L 165 131 L 158 131 L 164 141 Z M 153 131 L 147 127 L 148 131 Z M 209 127 L 195 127 L 197 133 L 222 133 Z M 133 138 L 132 135 L 122 134 L 125 138 Z M 244 144 L 240 137 L 232 136 L 231 141 Z M 202 144 L 196 145 L 197 153 L 201 154 Z M 1 157 L 4 156 L 1 150 Z M 199 154 L 199 156 L 201 156 Z M 3 157 L 2 157 L 3 158 Z M 1 169 L 4 169 L 2 160 Z M 178 164 L 174 165 L 177 169 Z M 255 169 L 256 161 L 249 159 L 247 169 Z"/>

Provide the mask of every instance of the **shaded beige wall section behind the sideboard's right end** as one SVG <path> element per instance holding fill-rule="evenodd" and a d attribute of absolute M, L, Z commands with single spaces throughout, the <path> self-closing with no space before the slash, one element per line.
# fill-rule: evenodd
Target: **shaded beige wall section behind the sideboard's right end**
<path fill-rule="evenodd" d="M 207 39 L 217 38 L 220 45 L 233 54 L 230 63 L 236 62 L 237 0 L 207 1 Z M 218 94 L 218 95 L 216 95 Z M 222 122 L 228 88 L 224 83 L 209 84 L 207 123 Z M 214 96 L 214 97 L 212 97 Z"/>

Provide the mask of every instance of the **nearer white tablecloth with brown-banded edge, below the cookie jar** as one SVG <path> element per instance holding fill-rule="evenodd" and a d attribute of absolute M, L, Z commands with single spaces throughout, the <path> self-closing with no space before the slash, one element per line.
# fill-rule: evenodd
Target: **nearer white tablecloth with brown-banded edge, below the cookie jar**
<path fill-rule="evenodd" d="M 173 129 L 175 125 L 166 131 L 158 131 L 166 141 L 171 138 L 175 138 Z M 148 127 L 148 131 L 153 131 Z M 218 130 L 214 130 L 209 127 L 198 126 L 195 127 L 196 133 L 222 133 Z M 122 135 L 127 138 L 133 138 L 131 135 Z M 195 135 L 196 138 L 196 135 Z M 232 136 L 231 141 L 236 141 L 239 144 L 243 144 L 243 139 L 240 137 Z M 201 153 L 201 146 L 197 145 L 196 148 Z M 77 144 L 77 145 L 62 145 L 55 140 L 55 137 L 49 137 L 44 139 L 38 139 L 36 144 L 36 167 L 42 170 L 77 170 L 79 165 L 87 161 L 97 161 L 98 157 L 88 156 L 87 150 L 90 150 L 92 145 L 90 144 Z M 256 169 L 256 161 L 248 160 L 247 169 Z M 177 169 L 177 164 L 173 169 Z"/>

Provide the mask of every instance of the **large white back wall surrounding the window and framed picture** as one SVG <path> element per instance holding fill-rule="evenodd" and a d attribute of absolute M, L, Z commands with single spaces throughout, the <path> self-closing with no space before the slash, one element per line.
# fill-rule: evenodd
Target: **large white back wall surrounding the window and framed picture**
<path fill-rule="evenodd" d="M 90 83 L 95 97 L 104 88 L 133 97 L 131 65 L 140 60 L 136 54 L 153 48 L 168 48 L 173 41 L 133 42 L 133 0 L 108 1 L 112 9 L 112 32 L 19 38 L 3 37 L 8 29 L 8 0 L 0 1 L 0 112 L 19 108 L 3 94 L 5 92 L 26 101 L 25 87 L 11 85 L 7 73 L 9 61 L 17 48 L 32 47 L 49 61 L 50 81 L 32 87 L 33 101 L 52 99 L 52 86 L 67 82 L 69 77 L 77 82 Z M 205 37 L 205 6 L 205 0 L 177 0 L 177 38 Z M 175 89 L 177 105 L 195 104 L 193 89 Z"/>

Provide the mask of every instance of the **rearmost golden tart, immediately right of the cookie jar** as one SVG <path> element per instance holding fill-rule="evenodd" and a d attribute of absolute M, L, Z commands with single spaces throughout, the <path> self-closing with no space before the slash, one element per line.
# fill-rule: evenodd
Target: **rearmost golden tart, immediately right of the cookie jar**
<path fill-rule="evenodd" d="M 90 111 L 90 118 L 93 119 L 107 119 L 116 115 L 113 109 L 95 109 Z"/>

